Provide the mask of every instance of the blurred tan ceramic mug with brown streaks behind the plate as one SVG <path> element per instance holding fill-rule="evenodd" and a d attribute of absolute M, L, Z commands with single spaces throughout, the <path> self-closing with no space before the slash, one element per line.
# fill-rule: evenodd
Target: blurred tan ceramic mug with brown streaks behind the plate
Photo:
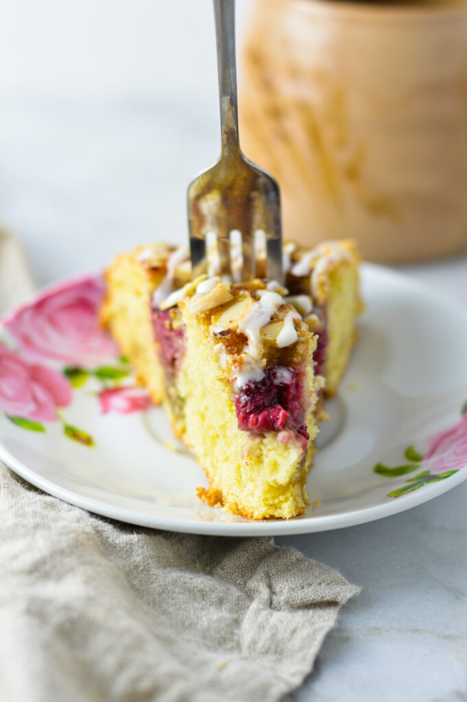
<path fill-rule="evenodd" d="M 467 5 L 256 0 L 242 147 L 284 236 L 400 261 L 467 247 Z"/>

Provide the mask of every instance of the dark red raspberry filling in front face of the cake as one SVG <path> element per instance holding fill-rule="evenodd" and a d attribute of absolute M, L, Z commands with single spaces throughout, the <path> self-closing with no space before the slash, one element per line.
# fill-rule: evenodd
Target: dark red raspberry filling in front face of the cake
<path fill-rule="evenodd" d="M 261 380 L 247 383 L 235 397 L 239 429 L 258 434 L 292 429 L 308 441 L 302 392 L 303 373 L 282 366 L 266 370 Z"/>

